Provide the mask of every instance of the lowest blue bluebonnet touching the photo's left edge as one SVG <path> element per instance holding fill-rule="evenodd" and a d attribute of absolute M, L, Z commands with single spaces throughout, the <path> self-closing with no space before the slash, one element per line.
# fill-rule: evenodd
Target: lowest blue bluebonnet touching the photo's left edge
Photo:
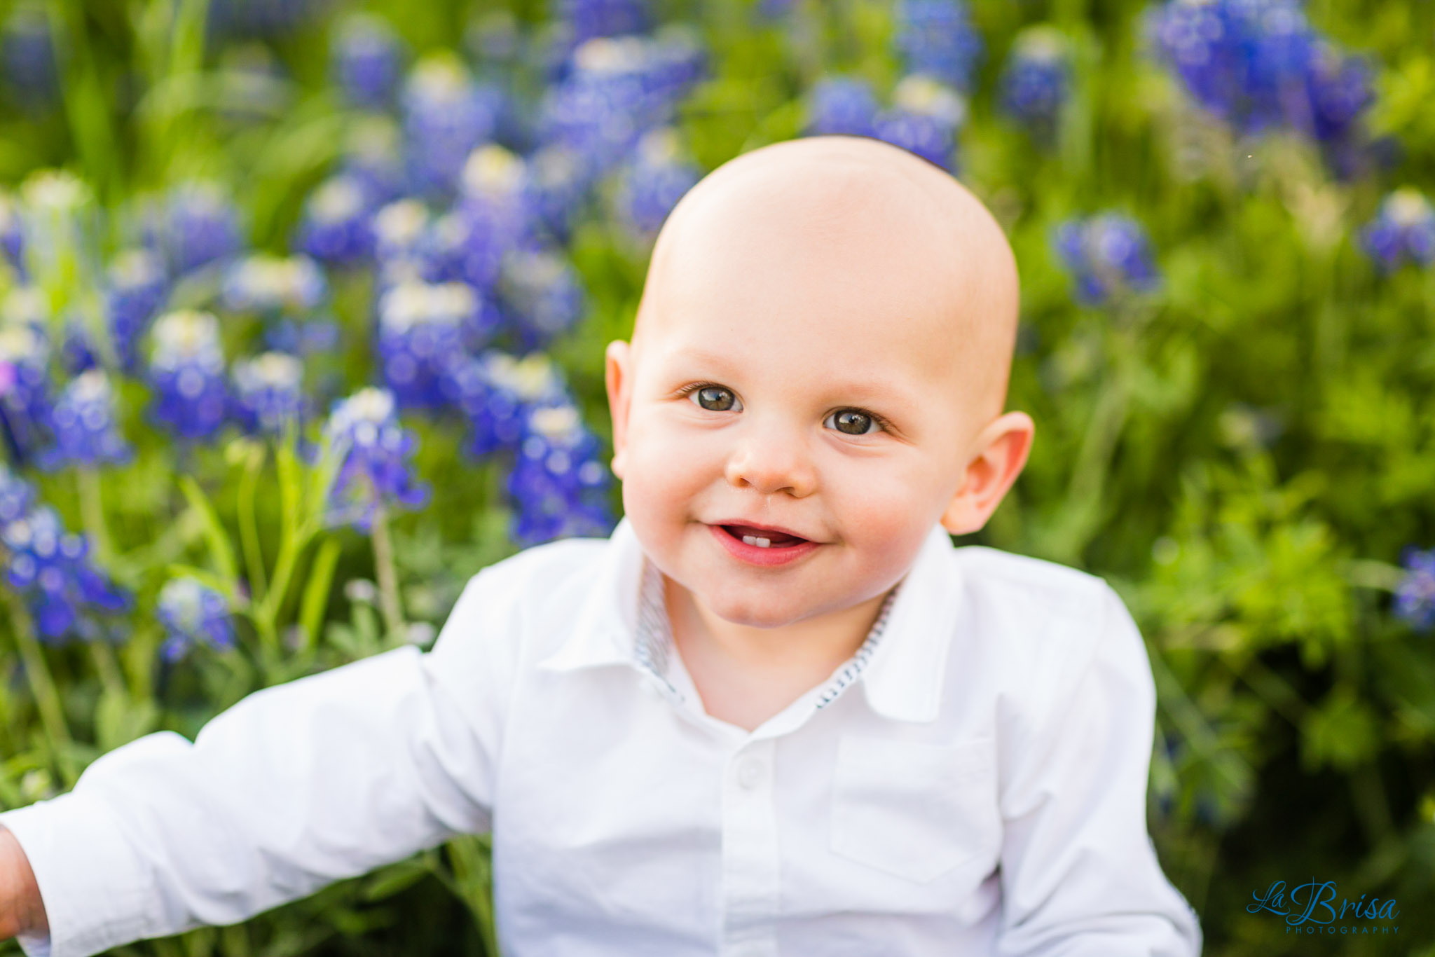
<path fill-rule="evenodd" d="M 98 638 L 95 613 L 131 607 L 131 595 L 90 562 L 89 539 L 66 532 L 49 505 L 7 522 L 0 541 L 9 552 L 6 581 L 23 595 L 42 640 Z"/>

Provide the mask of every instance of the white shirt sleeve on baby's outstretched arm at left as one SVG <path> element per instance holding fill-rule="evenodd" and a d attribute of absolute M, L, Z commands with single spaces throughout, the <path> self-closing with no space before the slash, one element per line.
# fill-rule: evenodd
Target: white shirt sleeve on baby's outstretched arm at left
<path fill-rule="evenodd" d="M 433 650 L 393 649 L 268 687 L 194 743 L 156 732 L 73 791 L 0 814 L 34 869 L 49 937 L 80 957 L 234 924 L 491 825 L 504 674 L 485 574 Z"/>

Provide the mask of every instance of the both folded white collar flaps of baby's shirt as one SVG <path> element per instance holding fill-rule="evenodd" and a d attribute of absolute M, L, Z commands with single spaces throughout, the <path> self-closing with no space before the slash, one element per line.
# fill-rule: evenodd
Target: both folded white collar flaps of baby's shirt
<path fill-rule="evenodd" d="M 880 715 L 930 722 L 941 704 L 951 624 L 960 588 L 951 538 L 934 527 L 887 610 L 884 637 L 861 671 L 867 703 Z M 607 664 L 641 667 L 639 633 L 643 550 L 627 518 L 618 521 L 598 561 L 597 580 L 578 610 L 573 633 L 540 669 L 571 671 Z"/>

